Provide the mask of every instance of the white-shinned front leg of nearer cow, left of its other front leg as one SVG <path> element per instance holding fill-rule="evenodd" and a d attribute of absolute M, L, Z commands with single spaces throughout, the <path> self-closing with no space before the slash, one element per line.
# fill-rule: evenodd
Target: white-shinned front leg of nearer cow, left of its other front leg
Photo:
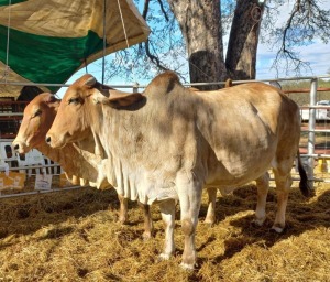
<path fill-rule="evenodd" d="M 168 260 L 175 251 L 174 227 L 175 227 L 175 199 L 161 202 L 162 219 L 165 226 L 164 250 L 160 256 L 161 260 Z"/>

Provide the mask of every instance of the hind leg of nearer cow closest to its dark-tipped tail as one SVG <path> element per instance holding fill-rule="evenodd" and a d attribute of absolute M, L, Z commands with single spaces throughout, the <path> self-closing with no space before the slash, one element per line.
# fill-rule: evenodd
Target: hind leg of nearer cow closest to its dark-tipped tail
<path fill-rule="evenodd" d="M 273 167 L 276 183 L 277 212 L 272 229 L 279 234 L 283 232 L 285 228 L 286 206 L 290 186 L 293 184 L 290 175 L 292 166 L 293 162 L 287 160 L 278 163 L 275 167 Z"/>

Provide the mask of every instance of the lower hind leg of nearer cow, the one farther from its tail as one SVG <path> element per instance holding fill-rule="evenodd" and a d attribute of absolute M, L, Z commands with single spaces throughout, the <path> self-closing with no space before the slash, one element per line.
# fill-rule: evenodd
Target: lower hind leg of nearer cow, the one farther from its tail
<path fill-rule="evenodd" d="M 270 174 L 266 172 L 255 182 L 257 188 L 257 203 L 255 209 L 255 219 L 253 223 L 257 226 L 262 226 L 266 219 L 266 200 L 270 189 Z"/>

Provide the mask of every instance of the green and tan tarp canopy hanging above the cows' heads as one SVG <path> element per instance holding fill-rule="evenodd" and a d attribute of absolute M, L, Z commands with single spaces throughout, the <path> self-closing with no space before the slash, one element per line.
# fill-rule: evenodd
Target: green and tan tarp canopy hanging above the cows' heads
<path fill-rule="evenodd" d="M 103 53 L 145 41 L 150 33 L 131 0 L 107 0 L 106 18 L 105 0 L 9 2 L 0 0 L 0 91 L 11 82 L 63 84 Z"/>

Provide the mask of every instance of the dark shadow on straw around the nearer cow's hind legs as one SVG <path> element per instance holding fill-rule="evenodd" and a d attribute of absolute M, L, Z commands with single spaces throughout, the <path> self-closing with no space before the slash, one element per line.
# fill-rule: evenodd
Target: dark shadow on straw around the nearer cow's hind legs
<path fill-rule="evenodd" d="M 276 234 L 271 228 L 275 220 L 276 194 L 272 189 L 267 198 L 267 218 L 262 227 L 252 224 L 256 204 L 256 188 L 252 186 L 242 187 L 229 197 L 220 197 L 217 203 L 218 224 L 230 219 L 229 225 L 239 232 L 231 234 L 230 238 L 224 239 L 224 252 L 212 259 L 213 263 L 219 263 L 224 259 L 230 259 L 248 246 L 261 246 L 272 248 L 275 243 L 286 240 L 290 237 L 297 237 L 307 230 L 316 228 L 330 227 L 330 191 L 324 191 L 310 199 L 300 195 L 297 188 L 293 188 L 286 213 L 286 228 L 283 234 Z M 204 207 L 202 209 L 205 209 Z M 207 239 L 199 248 L 202 250 L 208 246 Z M 200 259 L 200 262 L 208 259 Z"/>

